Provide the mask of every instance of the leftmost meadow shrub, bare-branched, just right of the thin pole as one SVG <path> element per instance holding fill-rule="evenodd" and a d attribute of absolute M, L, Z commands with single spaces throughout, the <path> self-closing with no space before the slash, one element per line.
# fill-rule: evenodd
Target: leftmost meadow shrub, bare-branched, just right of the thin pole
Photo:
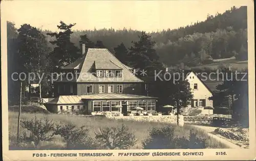
<path fill-rule="evenodd" d="M 20 125 L 30 131 L 29 136 L 24 132 L 20 139 L 34 143 L 35 147 L 38 146 L 40 141 L 51 141 L 53 139 L 53 120 L 48 120 L 47 118 L 38 120 L 35 116 L 30 121 L 22 120 Z"/>

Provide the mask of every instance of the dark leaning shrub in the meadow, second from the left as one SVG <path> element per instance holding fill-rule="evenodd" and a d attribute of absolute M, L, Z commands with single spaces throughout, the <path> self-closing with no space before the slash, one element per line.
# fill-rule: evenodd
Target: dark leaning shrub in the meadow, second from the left
<path fill-rule="evenodd" d="M 65 124 L 57 125 L 54 135 L 60 135 L 65 140 L 68 150 L 95 149 L 96 145 L 94 140 L 88 135 L 88 131 L 84 126 L 76 128 L 75 125 Z"/>

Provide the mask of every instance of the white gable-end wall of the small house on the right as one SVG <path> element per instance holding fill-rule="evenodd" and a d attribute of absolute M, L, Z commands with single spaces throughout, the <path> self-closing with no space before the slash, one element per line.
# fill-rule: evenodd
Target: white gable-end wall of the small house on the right
<path fill-rule="evenodd" d="M 197 101 L 197 105 L 199 106 L 200 99 L 205 100 L 203 106 L 213 106 L 213 101 L 208 98 L 212 96 L 212 93 L 205 87 L 205 85 L 201 82 L 201 80 L 196 76 L 195 73 L 190 72 L 187 76 L 187 81 L 190 84 L 191 92 L 194 94 L 194 100 Z M 198 89 L 194 89 L 194 84 L 197 84 Z M 191 102 L 191 104 L 194 102 Z M 188 105 L 188 107 L 194 106 Z"/>

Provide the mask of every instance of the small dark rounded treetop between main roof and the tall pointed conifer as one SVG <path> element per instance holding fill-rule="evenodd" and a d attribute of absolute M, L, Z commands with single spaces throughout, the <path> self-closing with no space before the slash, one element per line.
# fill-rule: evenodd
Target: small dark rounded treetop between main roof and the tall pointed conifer
<path fill-rule="evenodd" d="M 127 63 L 128 50 L 126 49 L 124 44 L 123 43 L 119 44 L 117 47 L 114 48 L 114 51 L 115 51 L 116 58 L 123 64 L 127 65 L 128 64 Z"/>

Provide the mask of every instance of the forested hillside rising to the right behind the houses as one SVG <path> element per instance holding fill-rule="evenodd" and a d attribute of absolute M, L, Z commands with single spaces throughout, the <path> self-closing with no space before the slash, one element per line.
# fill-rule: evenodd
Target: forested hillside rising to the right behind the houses
<path fill-rule="evenodd" d="M 175 22 L 174 22 L 175 23 Z M 44 33 L 48 33 L 45 31 Z M 114 52 L 114 48 L 124 44 L 132 46 L 138 41 L 141 31 L 131 29 L 74 31 L 71 42 L 79 46 L 80 36 L 87 37 Z M 207 15 L 205 21 L 196 22 L 179 29 L 148 33 L 156 42 L 155 49 L 160 61 L 167 66 L 183 62 L 187 66 L 207 64 L 212 59 L 235 56 L 238 60 L 247 60 L 247 7 L 232 7 L 223 14 Z M 51 37 L 47 37 L 52 40 Z"/>

